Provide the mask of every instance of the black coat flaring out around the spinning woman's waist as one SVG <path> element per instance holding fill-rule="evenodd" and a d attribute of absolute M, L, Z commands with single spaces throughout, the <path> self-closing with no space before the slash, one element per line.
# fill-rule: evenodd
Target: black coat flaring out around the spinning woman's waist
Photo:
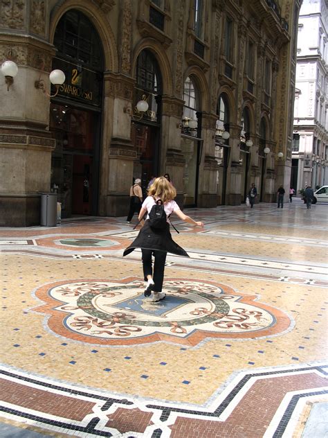
<path fill-rule="evenodd" d="M 189 257 L 181 246 L 174 242 L 170 233 L 170 224 L 163 229 L 153 229 L 149 225 L 149 220 L 145 221 L 143 228 L 140 229 L 138 236 L 123 252 L 123 256 L 130 254 L 135 248 L 154 249 L 157 251 L 171 252 L 176 256 Z"/>

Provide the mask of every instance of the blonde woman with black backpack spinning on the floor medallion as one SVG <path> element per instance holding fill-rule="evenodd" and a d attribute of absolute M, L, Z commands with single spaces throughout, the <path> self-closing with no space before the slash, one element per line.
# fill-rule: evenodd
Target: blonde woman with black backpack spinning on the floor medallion
<path fill-rule="evenodd" d="M 187 252 L 172 239 L 170 233 L 170 216 L 175 213 L 180 219 L 197 227 L 203 227 L 203 222 L 196 221 L 185 215 L 174 201 L 176 189 L 165 177 L 155 179 L 149 188 L 148 196 L 140 209 L 139 220 L 142 220 L 145 213 L 147 218 L 143 227 L 140 229 L 134 242 L 123 252 L 126 256 L 135 248 L 141 248 L 143 260 L 143 275 L 145 279 L 145 297 L 149 297 L 154 292 L 152 301 L 161 301 L 166 297 L 162 292 L 164 268 L 167 252 L 178 256 L 189 257 Z M 156 224 L 154 216 L 162 215 L 161 227 Z M 154 256 L 154 266 L 152 265 Z"/>

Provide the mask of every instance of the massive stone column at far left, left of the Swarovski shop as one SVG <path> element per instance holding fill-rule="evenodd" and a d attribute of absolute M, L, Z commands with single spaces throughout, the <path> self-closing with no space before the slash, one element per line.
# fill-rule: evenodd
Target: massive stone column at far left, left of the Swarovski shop
<path fill-rule="evenodd" d="M 50 191 L 51 152 L 48 131 L 50 98 L 35 88 L 48 73 L 55 50 L 48 44 L 48 3 L 2 2 L 0 64 L 12 60 L 18 73 L 7 91 L 0 77 L 0 225 L 40 223 L 40 192 Z"/>

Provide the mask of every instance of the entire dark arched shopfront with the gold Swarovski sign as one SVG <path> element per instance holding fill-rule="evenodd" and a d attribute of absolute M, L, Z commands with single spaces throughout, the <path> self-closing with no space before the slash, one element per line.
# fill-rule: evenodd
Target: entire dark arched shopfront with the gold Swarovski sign
<path fill-rule="evenodd" d="M 51 186 L 62 217 L 98 213 L 103 51 L 97 30 L 79 10 L 57 24 L 53 69 L 66 79 L 51 99 L 50 130 L 56 139 Z"/>

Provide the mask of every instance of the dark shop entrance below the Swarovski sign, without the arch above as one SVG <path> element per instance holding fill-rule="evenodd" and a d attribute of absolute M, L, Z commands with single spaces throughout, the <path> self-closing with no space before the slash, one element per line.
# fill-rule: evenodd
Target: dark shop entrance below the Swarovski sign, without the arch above
<path fill-rule="evenodd" d="M 51 104 L 50 127 L 56 139 L 51 189 L 62 202 L 62 218 L 97 214 L 98 125 L 98 113 Z"/>

